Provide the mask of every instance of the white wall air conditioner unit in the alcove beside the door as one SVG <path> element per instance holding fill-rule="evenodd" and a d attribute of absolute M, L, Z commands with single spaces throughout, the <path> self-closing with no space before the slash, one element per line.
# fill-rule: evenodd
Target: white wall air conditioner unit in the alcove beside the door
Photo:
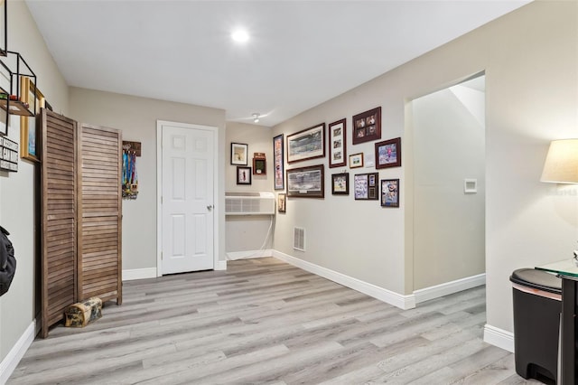
<path fill-rule="evenodd" d="M 273 192 L 225 192 L 226 215 L 275 215 Z"/>

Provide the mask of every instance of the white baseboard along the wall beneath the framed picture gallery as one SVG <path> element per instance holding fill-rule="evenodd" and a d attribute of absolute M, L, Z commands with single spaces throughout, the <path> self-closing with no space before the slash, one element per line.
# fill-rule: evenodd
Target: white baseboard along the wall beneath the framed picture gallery
<path fill-rule="evenodd" d="M 337 271 L 333 271 L 329 268 L 322 268 L 321 266 L 304 261 L 303 259 L 294 258 L 277 250 L 273 250 L 273 257 L 281 259 L 284 262 L 296 266 L 297 268 L 303 268 L 303 270 L 309 271 L 310 273 L 316 274 L 320 277 L 330 279 L 331 281 L 337 282 L 340 285 L 348 286 L 354 290 L 359 291 L 360 293 L 372 296 L 380 301 L 383 301 L 389 305 L 394 305 L 403 310 L 413 309 L 415 307 L 414 295 L 403 296 L 383 287 L 375 286 L 357 278 L 338 273 Z"/>

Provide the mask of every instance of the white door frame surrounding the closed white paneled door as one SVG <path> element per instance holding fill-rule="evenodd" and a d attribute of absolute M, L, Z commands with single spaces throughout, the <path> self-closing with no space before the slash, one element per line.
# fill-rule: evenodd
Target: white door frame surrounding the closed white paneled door
<path fill-rule="evenodd" d="M 163 126 L 201 129 L 213 133 L 213 269 L 219 268 L 219 128 L 189 123 L 156 121 L 156 277 L 163 276 Z"/>

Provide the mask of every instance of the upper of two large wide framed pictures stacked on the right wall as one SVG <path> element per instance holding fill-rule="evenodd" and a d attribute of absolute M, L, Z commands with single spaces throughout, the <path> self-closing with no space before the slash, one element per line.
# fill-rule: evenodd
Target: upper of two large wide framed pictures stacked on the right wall
<path fill-rule="evenodd" d="M 287 136 L 287 163 L 325 156 L 325 123 Z"/>

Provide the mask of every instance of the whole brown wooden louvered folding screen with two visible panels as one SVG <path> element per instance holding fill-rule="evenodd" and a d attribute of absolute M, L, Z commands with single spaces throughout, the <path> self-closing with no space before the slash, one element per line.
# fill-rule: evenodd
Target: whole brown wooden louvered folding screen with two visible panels
<path fill-rule="evenodd" d="M 122 303 L 122 137 L 42 108 L 41 335 L 64 309 Z"/>

